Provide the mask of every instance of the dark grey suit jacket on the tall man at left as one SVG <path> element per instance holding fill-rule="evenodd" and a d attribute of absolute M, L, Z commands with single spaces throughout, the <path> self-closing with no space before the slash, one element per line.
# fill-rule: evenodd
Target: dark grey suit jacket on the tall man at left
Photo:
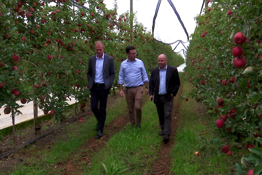
<path fill-rule="evenodd" d="M 87 71 L 89 90 L 92 88 L 95 80 L 95 61 L 96 61 L 96 55 L 89 58 L 88 71 Z M 104 57 L 103 79 L 105 82 L 105 89 L 107 89 L 108 86 L 112 87 L 115 79 L 115 64 L 113 58 L 107 54 L 105 54 Z"/>

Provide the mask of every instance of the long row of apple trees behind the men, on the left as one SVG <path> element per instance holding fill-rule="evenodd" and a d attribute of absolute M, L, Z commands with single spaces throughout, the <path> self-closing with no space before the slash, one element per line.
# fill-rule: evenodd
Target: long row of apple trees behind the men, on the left
<path fill-rule="evenodd" d="M 87 4 L 89 11 L 82 8 Z M 135 21 L 133 29 L 129 27 L 130 18 Z M 184 63 L 171 46 L 156 42 L 133 15 L 117 17 L 117 4 L 109 10 L 102 0 L 3 0 L 0 28 L 0 107 L 12 116 L 16 144 L 14 120 L 22 107 L 18 100 L 22 104 L 34 101 L 37 135 L 41 128 L 37 107 L 58 121 L 65 117 L 66 98 L 75 97 L 80 108 L 86 107 L 90 94 L 88 58 L 95 54 L 96 40 L 104 42 L 105 53 L 115 60 L 114 86 L 131 40 L 148 73 L 157 66 L 157 57 L 162 53 L 171 58 L 173 65 Z"/>

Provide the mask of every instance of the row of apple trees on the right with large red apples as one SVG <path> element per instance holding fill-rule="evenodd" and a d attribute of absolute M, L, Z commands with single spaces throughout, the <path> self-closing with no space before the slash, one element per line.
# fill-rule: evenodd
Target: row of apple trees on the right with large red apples
<path fill-rule="evenodd" d="M 198 25 L 187 52 L 186 72 L 192 83 L 188 95 L 207 106 L 222 138 L 232 138 L 252 152 L 241 161 L 249 161 L 250 166 L 236 164 L 236 174 L 243 175 L 250 169 L 249 175 L 259 175 L 262 1 L 212 0 L 205 10 L 196 18 Z M 222 151 L 232 154 L 225 147 Z"/>

